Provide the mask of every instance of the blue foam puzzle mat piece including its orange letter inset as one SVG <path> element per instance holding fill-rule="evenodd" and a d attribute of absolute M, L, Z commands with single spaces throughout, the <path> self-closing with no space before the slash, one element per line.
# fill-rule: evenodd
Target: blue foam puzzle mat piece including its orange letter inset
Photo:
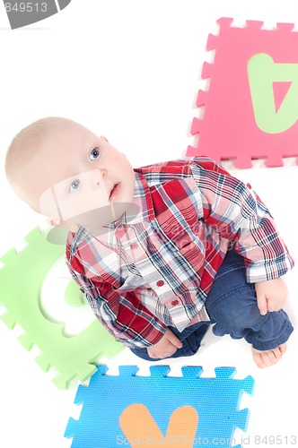
<path fill-rule="evenodd" d="M 72 448 L 199 443 L 215 448 L 223 442 L 233 446 L 234 429 L 247 429 L 249 409 L 239 406 L 242 393 L 254 391 L 251 376 L 234 379 L 230 367 L 216 368 L 215 378 L 201 377 L 197 366 L 182 367 L 182 376 L 171 376 L 168 366 L 151 366 L 150 376 L 136 375 L 137 370 L 119 366 L 113 376 L 99 366 L 89 386 L 79 386 L 74 403 L 83 404 L 81 416 L 69 418 L 65 433 L 73 438 Z"/>

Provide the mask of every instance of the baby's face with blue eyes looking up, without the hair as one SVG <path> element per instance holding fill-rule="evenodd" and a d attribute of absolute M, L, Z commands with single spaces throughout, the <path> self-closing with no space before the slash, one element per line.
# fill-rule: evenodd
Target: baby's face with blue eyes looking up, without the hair
<path fill-rule="evenodd" d="M 34 165 L 40 211 L 54 225 L 97 231 L 133 202 L 136 178 L 126 156 L 81 125 L 49 134 Z"/>

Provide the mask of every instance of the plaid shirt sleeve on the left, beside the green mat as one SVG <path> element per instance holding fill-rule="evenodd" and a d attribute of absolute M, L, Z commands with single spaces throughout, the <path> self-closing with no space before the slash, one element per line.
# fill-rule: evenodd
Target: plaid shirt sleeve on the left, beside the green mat
<path fill-rule="evenodd" d="M 117 340 L 136 349 L 149 347 L 162 338 L 166 325 L 142 305 L 138 297 L 142 289 L 119 294 L 100 277 L 89 279 L 74 271 L 67 259 L 66 264 L 97 319 Z"/>

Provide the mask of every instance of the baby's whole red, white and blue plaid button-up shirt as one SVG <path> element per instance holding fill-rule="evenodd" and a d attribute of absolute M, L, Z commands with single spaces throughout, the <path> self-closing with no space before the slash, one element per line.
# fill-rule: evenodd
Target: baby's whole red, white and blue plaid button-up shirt
<path fill-rule="evenodd" d="M 232 245 L 247 280 L 294 266 L 267 207 L 212 159 L 135 169 L 139 212 L 92 236 L 70 233 L 66 263 L 94 314 L 128 347 L 147 347 L 166 327 L 208 320 L 204 303 Z"/>

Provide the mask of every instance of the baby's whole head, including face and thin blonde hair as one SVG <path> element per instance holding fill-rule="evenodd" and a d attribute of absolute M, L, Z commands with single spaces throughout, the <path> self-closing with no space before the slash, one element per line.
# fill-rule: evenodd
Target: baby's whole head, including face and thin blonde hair
<path fill-rule="evenodd" d="M 117 220 L 133 201 L 136 178 L 126 156 L 62 117 L 22 129 L 7 151 L 5 171 L 31 209 L 72 230 Z"/>

